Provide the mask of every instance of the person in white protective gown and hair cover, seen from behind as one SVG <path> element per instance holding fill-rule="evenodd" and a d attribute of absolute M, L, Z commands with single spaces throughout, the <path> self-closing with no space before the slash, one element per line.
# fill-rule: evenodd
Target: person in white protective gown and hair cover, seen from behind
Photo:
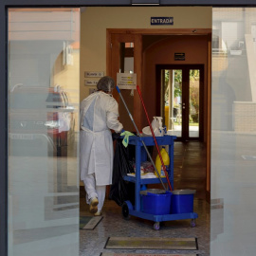
<path fill-rule="evenodd" d="M 115 82 L 105 76 L 97 84 L 98 91 L 81 103 L 80 169 L 90 212 L 101 215 L 106 185 L 112 184 L 113 140 L 110 129 L 123 131 L 119 122 L 119 104 L 111 92 Z"/>

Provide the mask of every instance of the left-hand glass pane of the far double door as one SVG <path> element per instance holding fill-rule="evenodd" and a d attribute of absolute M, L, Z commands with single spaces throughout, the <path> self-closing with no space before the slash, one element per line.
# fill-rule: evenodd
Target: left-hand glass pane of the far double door
<path fill-rule="evenodd" d="M 165 111 L 169 113 L 168 134 L 181 137 L 182 133 L 182 70 L 165 70 Z M 166 118 L 167 119 L 167 118 Z"/>

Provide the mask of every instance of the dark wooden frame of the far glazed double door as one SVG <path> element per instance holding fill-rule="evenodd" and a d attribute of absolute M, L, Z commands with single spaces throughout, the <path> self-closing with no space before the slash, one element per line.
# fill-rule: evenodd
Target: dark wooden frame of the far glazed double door
<path fill-rule="evenodd" d="M 185 119 L 182 119 L 182 134 L 181 137 L 177 137 L 176 140 L 185 141 L 185 140 L 204 140 L 204 64 L 156 64 L 155 66 L 155 78 L 156 78 L 156 115 L 160 116 L 161 113 L 161 101 L 162 101 L 162 82 L 161 82 L 161 71 L 162 70 L 168 70 L 168 69 L 182 69 L 185 71 L 188 71 L 190 69 L 200 69 L 202 70 L 200 72 L 200 83 L 199 83 L 199 136 L 198 137 L 190 137 L 189 136 L 189 112 L 188 112 L 188 105 L 189 105 L 189 78 L 186 76 L 182 76 L 182 83 L 187 84 L 187 88 L 185 90 L 182 90 L 182 98 L 184 99 L 185 103 L 187 103 L 186 109 L 183 110 L 182 108 L 182 117 L 185 116 L 184 113 L 186 113 Z M 185 81 L 184 81 L 185 80 Z M 183 86 L 182 86 L 183 88 Z M 184 102 L 182 101 L 182 102 Z M 185 130 L 183 129 L 185 127 Z"/>

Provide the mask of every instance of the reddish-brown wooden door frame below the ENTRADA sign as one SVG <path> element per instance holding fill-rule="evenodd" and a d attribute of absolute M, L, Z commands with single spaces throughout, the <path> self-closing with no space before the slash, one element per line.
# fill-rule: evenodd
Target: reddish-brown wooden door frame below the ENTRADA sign
<path fill-rule="evenodd" d="M 196 34 L 198 35 L 207 35 L 208 36 L 208 61 L 207 61 L 207 70 L 205 71 L 205 81 L 207 84 L 207 88 L 204 91 L 205 94 L 205 106 L 206 107 L 206 116 L 204 117 L 205 119 L 205 124 L 206 126 L 204 127 L 204 141 L 206 143 L 206 148 L 207 148 L 207 159 L 206 159 L 206 164 L 207 164 L 207 177 L 206 177 L 206 197 L 207 201 L 210 202 L 210 137 L 211 137 L 211 131 L 210 131 L 210 123 L 211 123 L 211 28 L 159 28 L 159 29 L 153 29 L 153 28 L 107 28 L 106 29 L 106 73 L 111 74 L 112 69 L 112 59 L 111 59 L 111 36 L 112 34 L 121 34 L 122 36 L 129 37 L 131 34 L 135 35 L 135 39 L 137 40 L 137 44 L 139 47 L 141 47 L 141 52 L 138 50 L 135 52 L 135 70 L 136 72 L 140 72 L 142 74 L 142 36 L 143 35 L 193 35 L 194 36 L 194 30 L 196 30 Z M 205 67 L 206 68 L 206 67 Z M 137 79 L 138 85 L 141 86 L 143 85 L 142 82 L 142 76 L 140 75 L 139 79 Z M 141 88 L 141 93 L 142 97 L 143 95 L 143 87 Z M 136 96 L 137 94 L 135 94 Z M 142 109 L 141 109 L 141 103 L 139 99 L 137 98 L 136 101 L 134 101 L 134 108 L 135 109 L 140 109 L 140 111 L 137 111 L 134 119 L 135 122 L 137 123 L 138 129 L 142 129 Z M 139 113 L 140 112 L 140 113 Z"/>

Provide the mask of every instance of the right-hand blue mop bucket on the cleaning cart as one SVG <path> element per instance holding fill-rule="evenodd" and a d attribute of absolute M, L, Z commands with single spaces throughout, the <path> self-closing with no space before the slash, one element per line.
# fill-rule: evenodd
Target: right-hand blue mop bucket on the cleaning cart
<path fill-rule="evenodd" d="M 193 212 L 193 190 L 173 191 L 171 213 Z"/>

